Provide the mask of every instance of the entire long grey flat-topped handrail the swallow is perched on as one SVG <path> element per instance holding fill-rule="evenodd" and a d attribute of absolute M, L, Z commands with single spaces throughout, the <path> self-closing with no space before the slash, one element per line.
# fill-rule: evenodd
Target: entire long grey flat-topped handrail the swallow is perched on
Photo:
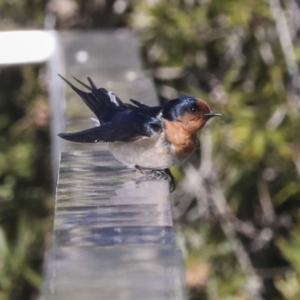
<path fill-rule="evenodd" d="M 52 120 L 58 122 L 52 126 L 53 164 L 59 171 L 41 298 L 185 299 L 168 182 L 140 181 L 105 145 L 56 141 L 57 131 L 92 124 L 91 112 L 70 88 L 62 99 L 56 68 L 82 81 L 90 76 L 124 101 L 158 103 L 141 69 L 136 39 L 128 31 L 64 32 L 56 38 L 58 52 L 48 71 L 50 89 L 57 89 L 50 94 Z"/>

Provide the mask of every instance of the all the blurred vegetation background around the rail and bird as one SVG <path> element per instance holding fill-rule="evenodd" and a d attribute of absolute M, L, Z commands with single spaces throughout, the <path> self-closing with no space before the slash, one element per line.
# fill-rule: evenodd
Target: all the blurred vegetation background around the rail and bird
<path fill-rule="evenodd" d="M 0 0 L 0 30 L 42 29 L 50 13 L 57 29 L 133 28 L 161 101 L 188 93 L 223 114 L 173 170 L 190 298 L 300 299 L 299 2 Z M 1 66 L 1 300 L 41 284 L 49 121 L 44 66 Z"/>

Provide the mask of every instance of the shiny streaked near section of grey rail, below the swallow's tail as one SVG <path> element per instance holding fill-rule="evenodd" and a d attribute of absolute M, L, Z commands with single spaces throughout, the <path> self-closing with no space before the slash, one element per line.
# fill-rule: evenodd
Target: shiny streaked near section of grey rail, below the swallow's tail
<path fill-rule="evenodd" d="M 185 299 L 167 181 L 108 151 L 63 153 L 43 299 Z"/>

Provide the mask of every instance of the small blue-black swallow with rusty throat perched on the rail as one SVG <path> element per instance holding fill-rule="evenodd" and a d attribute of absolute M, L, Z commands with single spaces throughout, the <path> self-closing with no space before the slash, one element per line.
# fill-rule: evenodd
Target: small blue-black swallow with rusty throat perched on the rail
<path fill-rule="evenodd" d="M 114 157 L 130 168 L 151 177 L 169 176 L 171 190 L 175 180 L 170 167 L 183 163 L 199 146 L 197 132 L 212 117 L 221 116 L 202 100 L 180 96 L 162 106 L 147 106 L 130 99 L 124 103 L 113 92 L 90 86 L 74 78 L 82 91 L 59 75 L 96 115 L 96 127 L 61 138 L 78 143 L 108 143 Z"/>

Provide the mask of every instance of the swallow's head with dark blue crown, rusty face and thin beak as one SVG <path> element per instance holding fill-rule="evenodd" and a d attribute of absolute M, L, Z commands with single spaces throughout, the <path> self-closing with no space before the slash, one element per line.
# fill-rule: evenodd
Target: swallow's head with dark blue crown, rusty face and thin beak
<path fill-rule="evenodd" d="M 171 122 L 179 122 L 189 132 L 196 132 L 212 117 L 221 116 L 210 110 L 202 100 L 191 96 L 181 96 L 167 102 L 162 117 Z"/>

